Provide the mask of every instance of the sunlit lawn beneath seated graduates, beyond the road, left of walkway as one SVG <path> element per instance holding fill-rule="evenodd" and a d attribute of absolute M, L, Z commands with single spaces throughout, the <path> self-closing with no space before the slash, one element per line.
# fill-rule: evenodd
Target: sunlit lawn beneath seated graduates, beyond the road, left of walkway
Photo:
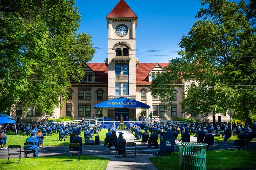
<path fill-rule="evenodd" d="M 106 133 L 107 133 L 107 129 L 102 129 L 101 131 L 99 131 L 99 136 L 100 136 L 100 140 L 104 141 L 105 137 L 106 137 Z M 7 142 L 6 142 L 6 146 L 8 145 L 21 145 L 24 146 L 24 142 L 26 141 L 27 137 L 25 134 L 19 134 L 18 138 L 19 140 L 17 140 L 17 136 L 12 134 L 10 135 L 8 131 L 6 131 L 6 136 L 7 136 Z M 94 140 L 95 140 L 95 136 Z M 81 131 L 81 136 L 84 139 L 84 132 Z M 63 145 L 68 145 L 69 144 L 69 137 L 65 138 L 66 141 L 59 141 L 59 134 L 53 134 L 52 136 L 46 136 L 44 138 L 44 146 L 63 146 Z M 102 143 L 101 143 L 102 144 Z"/>

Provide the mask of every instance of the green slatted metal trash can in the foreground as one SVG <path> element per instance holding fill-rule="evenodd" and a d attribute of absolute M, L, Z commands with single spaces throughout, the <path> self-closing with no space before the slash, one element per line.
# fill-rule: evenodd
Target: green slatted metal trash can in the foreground
<path fill-rule="evenodd" d="M 179 146 L 180 170 L 206 170 L 207 143 L 176 143 Z"/>

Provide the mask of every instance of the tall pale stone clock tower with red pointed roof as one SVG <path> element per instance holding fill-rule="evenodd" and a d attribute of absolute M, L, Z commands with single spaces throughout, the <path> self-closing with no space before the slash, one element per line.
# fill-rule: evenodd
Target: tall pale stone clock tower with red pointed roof
<path fill-rule="evenodd" d="M 108 27 L 108 100 L 136 99 L 137 15 L 120 0 L 106 17 Z"/>

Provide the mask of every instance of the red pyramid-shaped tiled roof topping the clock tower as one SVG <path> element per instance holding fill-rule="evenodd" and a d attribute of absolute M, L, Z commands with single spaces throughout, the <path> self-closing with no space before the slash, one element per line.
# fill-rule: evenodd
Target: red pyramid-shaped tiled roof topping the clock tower
<path fill-rule="evenodd" d="M 117 5 L 110 11 L 107 17 L 131 17 L 137 18 L 137 15 L 133 12 L 133 10 L 126 4 L 124 0 L 120 0 Z"/>

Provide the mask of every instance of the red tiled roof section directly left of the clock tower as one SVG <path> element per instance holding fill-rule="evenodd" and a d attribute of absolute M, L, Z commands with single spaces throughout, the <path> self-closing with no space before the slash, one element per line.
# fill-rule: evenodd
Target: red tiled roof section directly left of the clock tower
<path fill-rule="evenodd" d="M 87 65 L 95 73 L 95 82 L 94 83 L 107 83 L 108 68 L 105 65 L 105 63 L 87 63 Z"/>

